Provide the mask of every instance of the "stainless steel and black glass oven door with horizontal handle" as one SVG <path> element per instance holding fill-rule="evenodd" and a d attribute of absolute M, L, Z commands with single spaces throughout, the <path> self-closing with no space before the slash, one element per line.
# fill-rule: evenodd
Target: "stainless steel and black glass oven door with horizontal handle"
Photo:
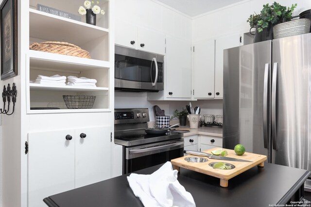
<path fill-rule="evenodd" d="M 183 155 L 183 139 L 174 139 L 134 147 L 123 147 L 122 173 L 132 173 L 134 171 L 171 161 L 171 159 Z"/>

